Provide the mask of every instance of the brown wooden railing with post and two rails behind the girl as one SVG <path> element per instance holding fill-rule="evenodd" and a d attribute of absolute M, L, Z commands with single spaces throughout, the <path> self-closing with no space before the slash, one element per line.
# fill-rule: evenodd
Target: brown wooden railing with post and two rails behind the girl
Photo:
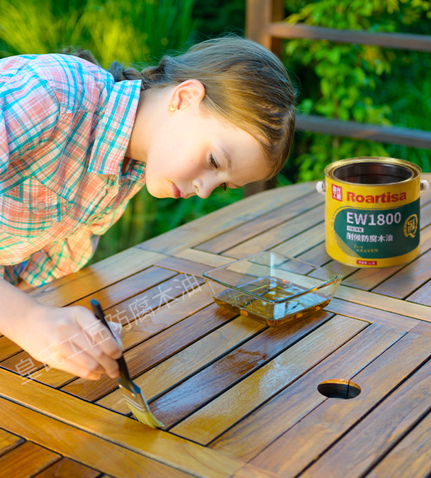
<path fill-rule="evenodd" d="M 337 30 L 309 26 L 303 23 L 285 23 L 283 0 L 247 0 L 247 37 L 281 55 L 281 39 L 310 38 L 337 43 L 376 45 L 382 48 L 431 52 L 431 35 L 410 33 L 370 33 L 368 31 Z M 323 116 L 296 115 L 296 130 L 314 131 L 347 138 L 360 138 L 381 143 L 431 149 L 431 132 L 410 128 L 378 126 L 355 121 L 341 121 Z M 268 189 L 262 182 L 248 188 L 246 195 Z"/>

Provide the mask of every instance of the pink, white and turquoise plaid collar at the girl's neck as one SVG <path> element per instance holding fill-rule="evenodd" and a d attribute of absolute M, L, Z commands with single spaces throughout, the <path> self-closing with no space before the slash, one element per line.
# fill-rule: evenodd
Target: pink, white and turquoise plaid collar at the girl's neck
<path fill-rule="evenodd" d="M 97 126 L 89 172 L 121 175 L 140 95 L 140 79 L 113 84 L 108 104 Z"/>

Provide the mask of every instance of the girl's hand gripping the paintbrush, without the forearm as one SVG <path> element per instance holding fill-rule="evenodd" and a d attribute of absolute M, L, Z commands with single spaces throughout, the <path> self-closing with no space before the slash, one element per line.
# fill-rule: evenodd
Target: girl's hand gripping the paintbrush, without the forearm
<path fill-rule="evenodd" d="M 123 346 L 88 309 L 38 304 L 17 322 L 9 338 L 35 360 L 84 379 L 118 377 Z M 109 324 L 121 344 L 121 324 Z"/>

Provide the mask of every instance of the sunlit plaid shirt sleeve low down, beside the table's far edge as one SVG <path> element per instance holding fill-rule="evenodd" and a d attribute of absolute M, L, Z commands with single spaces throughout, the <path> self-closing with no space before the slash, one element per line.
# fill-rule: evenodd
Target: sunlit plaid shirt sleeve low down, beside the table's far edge
<path fill-rule="evenodd" d="M 35 252 L 20 277 L 33 287 L 40 287 L 82 269 L 93 257 L 99 235 L 90 228 L 79 229 L 69 237 L 57 240 Z"/>

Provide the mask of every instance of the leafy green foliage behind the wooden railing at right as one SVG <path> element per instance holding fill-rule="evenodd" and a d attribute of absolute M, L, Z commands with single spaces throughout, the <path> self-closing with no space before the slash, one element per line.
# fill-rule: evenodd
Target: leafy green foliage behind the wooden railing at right
<path fill-rule="evenodd" d="M 422 0 L 318 0 L 309 3 L 288 0 L 286 6 L 291 12 L 287 18 L 289 23 L 343 30 L 401 32 L 410 29 L 418 33 L 418 28 L 423 28 L 431 14 L 430 1 Z M 285 48 L 286 63 L 301 79 L 298 104 L 301 113 L 430 129 L 431 105 L 424 104 L 422 96 L 429 89 L 430 70 L 419 63 L 415 74 L 404 79 L 403 68 L 415 56 L 417 52 L 394 52 L 372 45 L 325 40 L 289 40 Z M 420 87 L 413 87 L 413 84 L 420 84 Z M 397 103 L 396 95 L 401 94 L 406 101 Z M 408 112 L 408 105 L 410 109 L 416 105 L 416 109 L 417 101 L 422 103 L 419 110 L 423 114 L 412 121 L 410 113 L 414 110 Z M 296 138 L 293 179 L 321 179 L 329 162 L 360 156 L 404 157 L 417 162 L 424 170 L 430 164 L 430 152 L 425 150 L 301 133 Z"/>

